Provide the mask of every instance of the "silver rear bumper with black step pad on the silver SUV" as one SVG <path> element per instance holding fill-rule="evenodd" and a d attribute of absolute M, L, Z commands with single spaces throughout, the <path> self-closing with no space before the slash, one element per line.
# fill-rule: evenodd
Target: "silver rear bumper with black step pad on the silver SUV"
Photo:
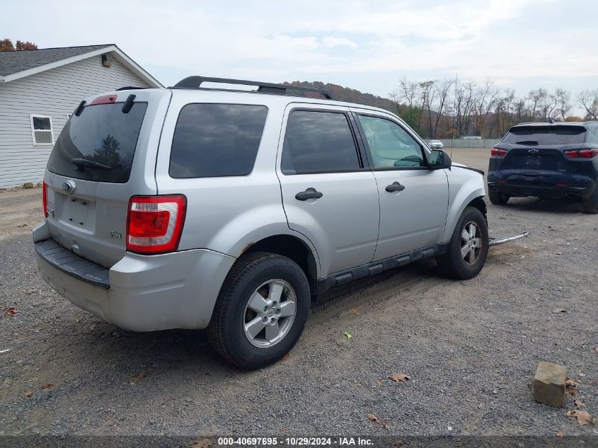
<path fill-rule="evenodd" d="M 235 261 L 207 249 L 161 255 L 127 253 L 108 269 L 50 239 L 35 241 L 36 233 L 43 234 L 40 226 L 34 230 L 34 243 L 44 280 L 76 306 L 131 331 L 205 328 Z M 49 249 L 53 258 L 47 256 Z M 91 270 L 97 278 L 85 277 Z M 107 283 L 102 281 L 105 277 Z"/>

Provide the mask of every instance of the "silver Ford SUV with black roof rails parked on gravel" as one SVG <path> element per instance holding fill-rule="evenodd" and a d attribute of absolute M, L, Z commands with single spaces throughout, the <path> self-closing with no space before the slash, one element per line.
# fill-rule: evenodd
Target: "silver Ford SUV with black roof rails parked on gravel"
<path fill-rule="evenodd" d="M 53 289 L 132 331 L 207 328 L 246 368 L 289 352 L 326 289 L 432 257 L 468 279 L 488 253 L 479 171 L 386 110 L 280 84 L 88 98 L 43 193 Z"/>

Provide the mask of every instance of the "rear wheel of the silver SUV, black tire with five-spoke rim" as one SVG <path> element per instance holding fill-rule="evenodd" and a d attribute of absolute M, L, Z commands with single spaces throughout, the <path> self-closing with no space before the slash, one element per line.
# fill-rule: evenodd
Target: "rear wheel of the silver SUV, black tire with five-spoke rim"
<path fill-rule="evenodd" d="M 258 369 L 279 360 L 299 340 L 310 305 L 309 282 L 293 260 L 248 253 L 226 276 L 207 328 L 219 355 Z"/>

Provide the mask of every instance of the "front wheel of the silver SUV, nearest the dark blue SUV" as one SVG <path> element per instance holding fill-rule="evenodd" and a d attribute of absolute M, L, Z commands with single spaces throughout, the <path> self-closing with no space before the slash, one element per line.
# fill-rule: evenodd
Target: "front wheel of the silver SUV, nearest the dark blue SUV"
<path fill-rule="evenodd" d="M 468 280 L 476 277 L 488 256 L 488 225 L 476 207 L 465 207 L 457 222 L 447 252 L 437 263 L 447 277 Z"/>

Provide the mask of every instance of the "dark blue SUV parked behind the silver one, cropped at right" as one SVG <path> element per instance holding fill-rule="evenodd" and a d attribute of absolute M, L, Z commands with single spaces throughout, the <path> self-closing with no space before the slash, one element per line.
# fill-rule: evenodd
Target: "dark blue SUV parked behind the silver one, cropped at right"
<path fill-rule="evenodd" d="M 490 152 L 488 197 L 570 198 L 598 213 L 598 122 L 522 123 Z"/>

